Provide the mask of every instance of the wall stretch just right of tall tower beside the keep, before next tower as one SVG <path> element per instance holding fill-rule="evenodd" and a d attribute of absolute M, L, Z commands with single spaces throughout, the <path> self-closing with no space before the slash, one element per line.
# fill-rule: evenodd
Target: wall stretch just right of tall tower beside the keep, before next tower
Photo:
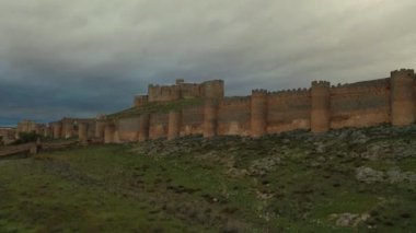
<path fill-rule="evenodd" d="M 226 97 L 218 106 L 218 135 L 251 133 L 251 97 Z"/>

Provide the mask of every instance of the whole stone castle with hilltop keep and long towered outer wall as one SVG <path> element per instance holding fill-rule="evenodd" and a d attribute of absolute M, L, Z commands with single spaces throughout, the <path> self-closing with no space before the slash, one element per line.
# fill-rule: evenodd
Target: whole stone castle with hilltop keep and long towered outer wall
<path fill-rule="evenodd" d="M 385 123 L 406 126 L 416 119 L 415 92 L 411 69 L 392 71 L 385 79 L 336 86 L 314 81 L 310 89 L 253 90 L 250 96 L 241 97 L 224 96 L 221 80 L 200 84 L 176 80 L 173 85 L 149 85 L 148 95 L 136 96 L 134 107 L 120 114 L 63 118 L 49 124 L 44 133 L 117 143 L 189 135 L 262 137 L 296 129 L 325 132 Z"/>

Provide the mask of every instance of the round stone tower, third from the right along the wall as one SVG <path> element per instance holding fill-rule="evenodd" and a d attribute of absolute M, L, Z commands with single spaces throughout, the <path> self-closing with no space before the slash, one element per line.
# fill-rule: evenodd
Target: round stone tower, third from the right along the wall
<path fill-rule="evenodd" d="M 262 137 L 266 133 L 267 117 L 267 91 L 253 90 L 251 103 L 251 136 L 254 138 Z"/>

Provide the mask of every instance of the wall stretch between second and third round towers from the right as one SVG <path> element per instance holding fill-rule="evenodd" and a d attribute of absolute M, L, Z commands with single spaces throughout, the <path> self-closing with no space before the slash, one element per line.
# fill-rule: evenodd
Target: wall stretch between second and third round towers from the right
<path fill-rule="evenodd" d="M 267 109 L 267 133 L 311 128 L 310 90 L 270 92 Z"/>

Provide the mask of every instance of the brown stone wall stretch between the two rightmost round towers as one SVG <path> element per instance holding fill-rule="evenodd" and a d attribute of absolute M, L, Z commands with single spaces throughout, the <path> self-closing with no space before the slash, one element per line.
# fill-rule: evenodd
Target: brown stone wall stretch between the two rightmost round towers
<path fill-rule="evenodd" d="M 390 123 L 390 79 L 333 86 L 331 128 Z"/>

